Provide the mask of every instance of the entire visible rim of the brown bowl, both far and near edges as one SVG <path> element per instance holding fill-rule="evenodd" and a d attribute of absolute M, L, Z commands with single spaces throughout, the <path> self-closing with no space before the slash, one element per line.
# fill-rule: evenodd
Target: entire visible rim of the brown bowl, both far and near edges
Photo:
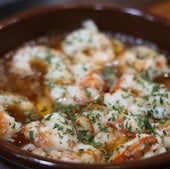
<path fill-rule="evenodd" d="M 76 9 L 82 9 L 82 10 L 111 10 L 111 11 L 118 11 L 129 15 L 135 15 L 141 18 L 144 18 L 151 22 L 157 22 L 160 24 L 163 24 L 170 28 L 170 20 L 166 18 L 159 17 L 157 15 L 150 14 L 149 12 L 146 12 L 144 10 L 139 10 L 136 8 L 129 8 L 129 7 L 119 7 L 119 6 L 109 6 L 108 4 L 103 3 L 95 3 L 95 4 L 83 4 L 83 3 L 77 3 L 77 4 L 65 4 L 65 5 L 54 5 L 54 6 L 46 6 L 46 7 L 38 7 L 35 9 L 27 10 L 25 12 L 21 12 L 12 16 L 9 16 L 3 20 L 0 21 L 0 31 L 5 29 L 6 27 L 10 27 L 13 24 L 16 24 L 18 22 L 21 22 L 23 20 L 39 16 L 43 13 L 48 13 L 54 10 L 76 10 Z M 72 168 L 84 168 L 87 169 L 90 167 L 94 168 L 105 168 L 105 169 L 113 169 L 113 168 L 124 168 L 127 166 L 132 167 L 140 167 L 147 166 L 148 163 L 157 163 L 160 162 L 162 164 L 168 163 L 170 165 L 170 161 L 168 160 L 170 158 L 170 153 L 166 152 L 163 154 L 159 154 L 150 158 L 142 159 L 142 160 L 133 160 L 133 161 L 127 161 L 123 163 L 117 163 L 117 164 L 82 164 L 82 163 L 73 163 L 73 162 L 66 162 L 66 161 L 59 161 L 59 160 L 52 160 L 49 158 L 41 157 L 35 154 L 31 154 L 29 152 L 26 152 L 24 150 L 21 150 L 20 148 L 6 142 L 0 139 L 0 158 L 10 161 L 8 157 L 13 157 L 16 161 L 13 161 L 13 163 L 16 163 L 17 165 L 21 165 L 17 162 L 21 161 L 29 161 L 34 162 L 36 164 L 41 164 L 46 167 L 69 167 Z M 10 150 L 10 151 L 9 151 Z M 157 161 L 157 162 L 156 162 Z"/>

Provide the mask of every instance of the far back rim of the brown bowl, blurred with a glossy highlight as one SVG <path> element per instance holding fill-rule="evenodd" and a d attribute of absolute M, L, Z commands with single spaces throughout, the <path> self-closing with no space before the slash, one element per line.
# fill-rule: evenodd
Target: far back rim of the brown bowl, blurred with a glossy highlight
<path fill-rule="evenodd" d="M 76 4 L 60 4 L 60 5 L 49 5 L 49 6 L 43 6 L 43 7 L 37 7 L 35 9 L 28 9 L 23 12 L 19 12 L 16 14 L 13 14 L 11 16 L 8 16 L 2 20 L 0 20 L 0 31 L 1 29 L 4 29 L 5 27 L 8 27 L 12 24 L 15 24 L 17 22 L 21 22 L 22 20 L 29 19 L 31 17 L 34 17 L 36 15 L 41 15 L 43 13 L 47 13 L 54 10 L 67 10 L 67 9 L 82 9 L 82 10 L 113 10 L 113 11 L 119 11 L 125 14 L 130 14 L 138 17 L 145 18 L 148 21 L 151 22 L 157 22 L 160 24 L 164 24 L 166 26 L 170 26 L 170 20 L 167 18 L 164 18 L 162 16 L 158 16 L 156 14 L 152 14 L 149 11 L 141 10 L 137 8 L 132 7 L 122 7 L 122 6 L 111 6 L 105 3 L 92 3 L 92 4 L 86 4 L 86 3 L 76 3 Z"/>

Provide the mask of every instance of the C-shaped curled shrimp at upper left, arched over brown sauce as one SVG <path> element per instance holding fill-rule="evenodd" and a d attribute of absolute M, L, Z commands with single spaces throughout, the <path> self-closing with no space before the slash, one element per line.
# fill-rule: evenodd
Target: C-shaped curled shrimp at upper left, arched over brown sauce
<path fill-rule="evenodd" d="M 47 67 L 45 79 L 48 82 L 69 83 L 72 75 L 67 69 L 64 61 L 64 54 L 55 49 L 45 46 L 26 46 L 18 49 L 11 61 L 11 72 L 21 76 L 31 76 L 34 74 L 31 63 L 39 61 Z"/>

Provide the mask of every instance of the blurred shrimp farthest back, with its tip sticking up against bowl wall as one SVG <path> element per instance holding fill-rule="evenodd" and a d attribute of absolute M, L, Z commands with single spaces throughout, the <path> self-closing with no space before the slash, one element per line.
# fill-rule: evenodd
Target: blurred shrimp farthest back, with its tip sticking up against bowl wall
<path fill-rule="evenodd" d="M 84 28 L 70 33 L 62 44 L 63 51 L 73 56 L 75 62 L 92 62 L 101 66 L 114 59 L 114 49 L 111 40 L 99 33 L 92 21 L 83 23 Z"/>

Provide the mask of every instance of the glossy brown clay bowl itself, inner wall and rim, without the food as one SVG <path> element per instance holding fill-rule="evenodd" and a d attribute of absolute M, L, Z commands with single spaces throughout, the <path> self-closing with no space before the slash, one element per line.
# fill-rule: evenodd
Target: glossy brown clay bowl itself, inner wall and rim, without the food
<path fill-rule="evenodd" d="M 92 19 L 99 29 L 122 33 L 155 43 L 170 56 L 170 22 L 129 8 L 96 5 L 65 5 L 40 8 L 10 17 L 0 23 L 0 56 L 22 43 L 48 36 L 63 34 L 80 27 L 82 21 Z M 170 166 L 170 153 L 145 160 L 123 164 L 90 165 L 54 161 L 32 155 L 0 140 L 0 161 L 10 168 L 19 169 L 117 169 L 165 168 Z"/>

